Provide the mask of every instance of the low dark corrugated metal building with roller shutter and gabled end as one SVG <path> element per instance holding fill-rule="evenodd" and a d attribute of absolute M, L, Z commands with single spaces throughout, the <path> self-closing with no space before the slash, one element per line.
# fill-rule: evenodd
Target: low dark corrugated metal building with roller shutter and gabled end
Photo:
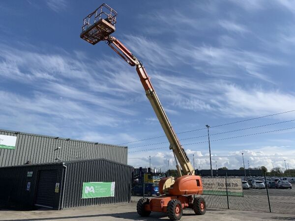
<path fill-rule="evenodd" d="M 131 197 L 132 167 L 105 159 L 0 167 L 0 177 L 0 206 L 59 210 Z M 115 182 L 114 196 L 82 199 L 84 182 Z"/>

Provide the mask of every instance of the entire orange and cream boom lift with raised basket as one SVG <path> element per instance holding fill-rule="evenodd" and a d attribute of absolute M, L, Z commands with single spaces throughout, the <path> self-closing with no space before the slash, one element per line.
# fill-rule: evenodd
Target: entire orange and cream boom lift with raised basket
<path fill-rule="evenodd" d="M 179 220 L 182 217 L 182 210 L 185 208 L 191 208 L 197 215 L 203 215 L 206 212 L 204 198 L 193 197 L 194 194 L 203 193 L 202 179 L 195 175 L 195 170 L 169 122 L 142 62 L 117 38 L 111 36 L 116 30 L 116 17 L 117 12 L 114 9 L 107 4 L 100 5 L 84 18 L 80 37 L 92 45 L 99 41 L 105 41 L 129 65 L 136 67 L 148 100 L 170 142 L 169 148 L 173 151 L 178 174 L 178 177 L 166 177 L 160 180 L 159 190 L 162 195 L 151 199 L 140 199 L 137 203 L 137 212 L 144 217 L 149 216 L 151 211 L 165 212 L 170 220 Z"/>

